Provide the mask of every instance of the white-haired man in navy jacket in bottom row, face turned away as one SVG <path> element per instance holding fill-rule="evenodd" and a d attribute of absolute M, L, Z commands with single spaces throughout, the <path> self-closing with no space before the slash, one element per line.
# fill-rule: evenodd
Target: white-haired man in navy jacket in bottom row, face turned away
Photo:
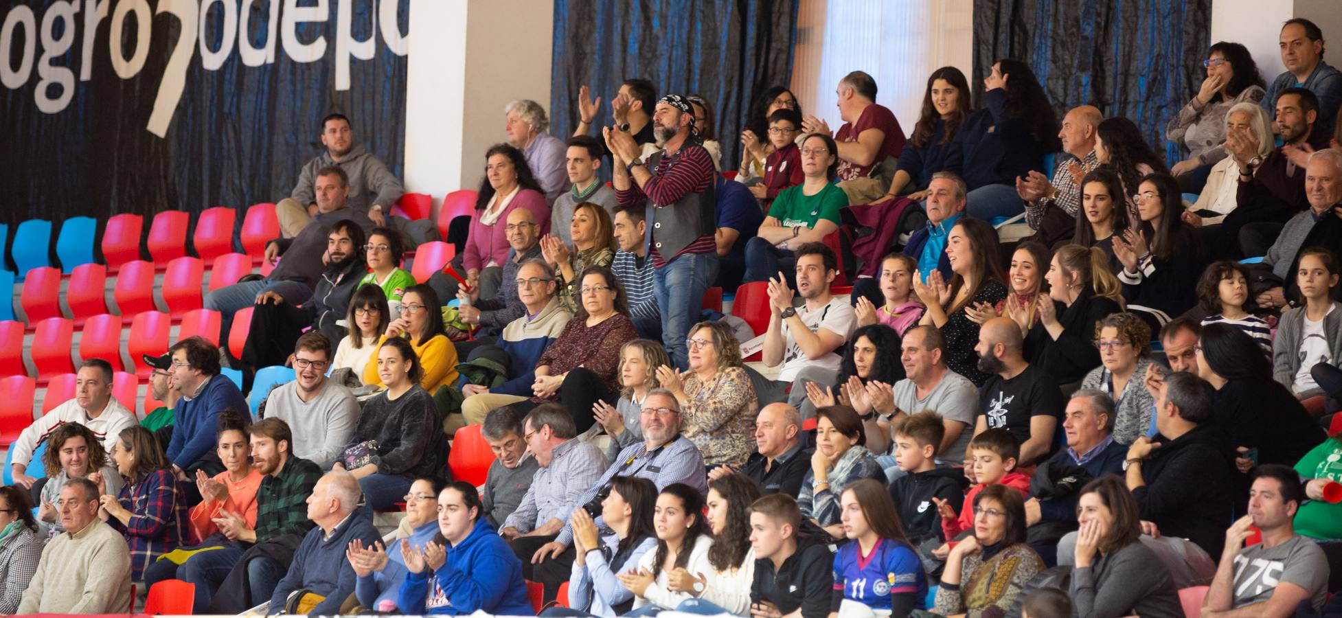
<path fill-rule="evenodd" d="M 372 511 L 358 507 L 361 497 L 358 480 L 346 471 L 327 472 L 317 481 L 313 495 L 307 497 L 307 519 L 317 527 L 303 536 L 289 574 L 275 586 L 275 594 L 270 598 L 270 614 L 280 610 L 290 614 L 340 613 L 357 583 L 345 550 L 354 540 L 364 547 L 382 540 L 377 528 L 373 528 Z M 294 594 L 299 591 L 302 593 Z"/>

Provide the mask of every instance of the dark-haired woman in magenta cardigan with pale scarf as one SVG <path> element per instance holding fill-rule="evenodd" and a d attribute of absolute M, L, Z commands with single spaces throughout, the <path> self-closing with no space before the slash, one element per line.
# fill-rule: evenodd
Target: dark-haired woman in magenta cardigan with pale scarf
<path fill-rule="evenodd" d="M 509 213 L 517 208 L 531 210 L 539 225 L 537 229 L 545 232 L 550 229 L 550 206 L 521 150 L 499 143 L 484 153 L 484 180 L 480 181 L 459 265 L 466 268 L 468 286 L 480 286 L 480 298 L 494 298 L 503 282 L 503 260 L 511 248 L 503 229 Z M 456 290 L 448 292 L 455 295 Z"/>

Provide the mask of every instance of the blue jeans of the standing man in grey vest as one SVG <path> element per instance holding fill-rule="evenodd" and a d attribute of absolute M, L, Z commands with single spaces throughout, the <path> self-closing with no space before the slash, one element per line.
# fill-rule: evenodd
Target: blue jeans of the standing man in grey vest
<path fill-rule="evenodd" d="M 654 294 L 662 307 L 662 345 L 682 371 L 690 369 L 684 339 L 699 319 L 703 295 L 718 271 L 717 253 L 684 253 L 652 269 Z"/>

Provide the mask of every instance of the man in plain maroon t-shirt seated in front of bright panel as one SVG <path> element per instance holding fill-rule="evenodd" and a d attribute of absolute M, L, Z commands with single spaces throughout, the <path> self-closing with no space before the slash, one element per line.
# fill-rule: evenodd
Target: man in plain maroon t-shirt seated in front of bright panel
<path fill-rule="evenodd" d="M 854 71 L 839 80 L 839 186 L 848 204 L 870 204 L 886 194 L 895 162 L 905 149 L 905 131 L 886 106 L 876 103 L 876 80 Z M 829 135 L 829 125 L 813 115 L 801 122 L 807 133 Z"/>

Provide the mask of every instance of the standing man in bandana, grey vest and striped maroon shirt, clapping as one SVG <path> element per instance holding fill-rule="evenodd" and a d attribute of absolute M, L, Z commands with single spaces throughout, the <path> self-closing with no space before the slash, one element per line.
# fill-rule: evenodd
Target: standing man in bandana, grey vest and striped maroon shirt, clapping
<path fill-rule="evenodd" d="M 619 127 L 605 129 L 605 143 L 615 158 L 612 184 L 620 205 L 646 208 L 644 243 L 662 307 L 662 343 L 676 367 L 686 370 L 686 336 L 718 271 L 717 172 L 694 135 L 694 109 L 683 97 L 658 101 L 652 127 L 666 146 L 647 162 L 633 135 Z"/>

